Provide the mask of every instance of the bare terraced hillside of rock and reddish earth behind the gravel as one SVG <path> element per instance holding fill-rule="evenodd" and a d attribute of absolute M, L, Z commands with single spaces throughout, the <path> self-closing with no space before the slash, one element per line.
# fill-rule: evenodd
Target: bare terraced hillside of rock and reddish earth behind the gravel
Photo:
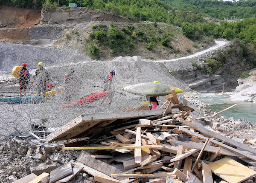
<path fill-rule="evenodd" d="M 17 16 L 8 16 L 12 12 Z M 99 46 L 100 53 L 94 59 L 111 60 L 120 55 L 140 55 L 143 59 L 154 60 L 171 59 L 195 53 L 200 48 L 200 45 L 183 36 L 180 28 L 164 23 L 138 23 L 137 20 L 128 20 L 87 8 L 70 7 L 67 10 L 36 12 L 37 14 L 34 10 L 23 11 L 20 8 L 1 6 L 0 16 L 3 20 L 0 24 L 0 41 L 47 45 L 58 49 L 62 49 L 65 44 L 88 55 L 89 51 L 86 48 L 89 46 L 89 35 L 93 32 L 92 26 L 103 25 L 107 31 L 112 23 L 118 28 L 134 25 L 135 29 L 142 29 L 144 34 L 147 33 L 147 37 L 133 40 L 132 51 L 126 49 L 127 44 L 123 44 L 123 50 L 116 53 L 113 53 L 105 43 L 99 45 L 96 41 L 94 44 Z M 21 13 L 24 13 L 23 16 L 18 16 Z M 154 45 L 151 50 L 146 48 L 147 42 L 144 39 L 159 39 L 166 31 L 173 34 L 169 47 Z"/>

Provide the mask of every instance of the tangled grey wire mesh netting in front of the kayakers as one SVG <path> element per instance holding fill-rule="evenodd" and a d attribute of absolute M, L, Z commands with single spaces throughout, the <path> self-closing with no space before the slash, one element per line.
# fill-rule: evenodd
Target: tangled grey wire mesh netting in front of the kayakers
<path fill-rule="evenodd" d="M 105 76 L 114 68 L 108 68 L 101 62 L 85 59 L 69 63 L 62 59 L 55 63 L 58 65 L 43 63 L 41 72 L 36 72 L 35 67 L 39 66 L 30 70 L 31 65 L 28 65 L 30 79 L 26 92 L 22 90 L 22 96 L 19 79 L 12 76 L 12 70 L 2 72 L 1 134 L 13 132 L 14 127 L 26 130 L 32 124 L 60 127 L 80 114 L 121 112 L 128 108 L 137 110 L 142 105 L 140 101 L 146 99 L 145 95 L 124 92 L 124 86 L 115 78 L 119 73 L 113 76 L 108 88 Z"/>

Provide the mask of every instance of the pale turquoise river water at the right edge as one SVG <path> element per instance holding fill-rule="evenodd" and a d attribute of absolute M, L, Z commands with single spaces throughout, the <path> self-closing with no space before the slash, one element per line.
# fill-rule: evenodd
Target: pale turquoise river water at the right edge
<path fill-rule="evenodd" d="M 222 112 L 219 116 L 224 118 L 233 117 L 234 119 L 244 118 L 252 124 L 256 124 L 256 104 L 247 101 L 231 101 L 229 96 L 216 95 L 215 93 L 202 93 L 197 98 L 207 104 L 207 110 L 219 112 L 227 107 L 237 104 L 236 106 Z"/>

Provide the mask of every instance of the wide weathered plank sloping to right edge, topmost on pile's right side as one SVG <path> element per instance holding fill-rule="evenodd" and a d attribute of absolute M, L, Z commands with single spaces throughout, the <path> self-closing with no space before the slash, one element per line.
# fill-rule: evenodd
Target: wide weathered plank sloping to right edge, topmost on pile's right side
<path fill-rule="evenodd" d="M 249 151 L 249 152 L 252 152 L 252 153 L 256 154 L 256 149 L 253 149 L 250 146 L 247 146 L 246 144 L 239 143 L 238 141 L 235 141 L 235 140 L 233 140 L 231 138 L 228 138 L 224 135 L 221 135 L 217 132 L 208 130 L 201 123 L 199 123 L 198 121 L 196 121 L 192 118 L 190 118 L 190 119 L 192 120 L 192 122 L 186 121 L 182 118 L 179 118 L 179 121 L 183 124 L 186 124 L 187 126 L 195 128 L 196 130 L 200 131 L 201 133 L 204 133 L 204 134 L 209 135 L 211 137 L 217 138 L 221 141 L 225 141 L 228 144 L 231 144 L 233 146 L 239 147 L 241 149 L 244 149 L 246 151 Z"/>

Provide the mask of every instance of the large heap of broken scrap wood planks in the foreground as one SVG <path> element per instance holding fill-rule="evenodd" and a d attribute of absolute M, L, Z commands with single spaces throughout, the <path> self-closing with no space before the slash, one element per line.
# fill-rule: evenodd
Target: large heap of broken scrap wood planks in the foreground
<path fill-rule="evenodd" d="M 165 110 L 81 115 L 49 134 L 48 142 L 73 139 L 64 153 L 80 152 L 50 172 L 49 182 L 79 171 L 100 183 L 240 183 L 256 175 L 247 167 L 256 166 L 255 139 L 203 125 L 191 110 L 172 113 L 177 101 L 167 103 Z"/>

